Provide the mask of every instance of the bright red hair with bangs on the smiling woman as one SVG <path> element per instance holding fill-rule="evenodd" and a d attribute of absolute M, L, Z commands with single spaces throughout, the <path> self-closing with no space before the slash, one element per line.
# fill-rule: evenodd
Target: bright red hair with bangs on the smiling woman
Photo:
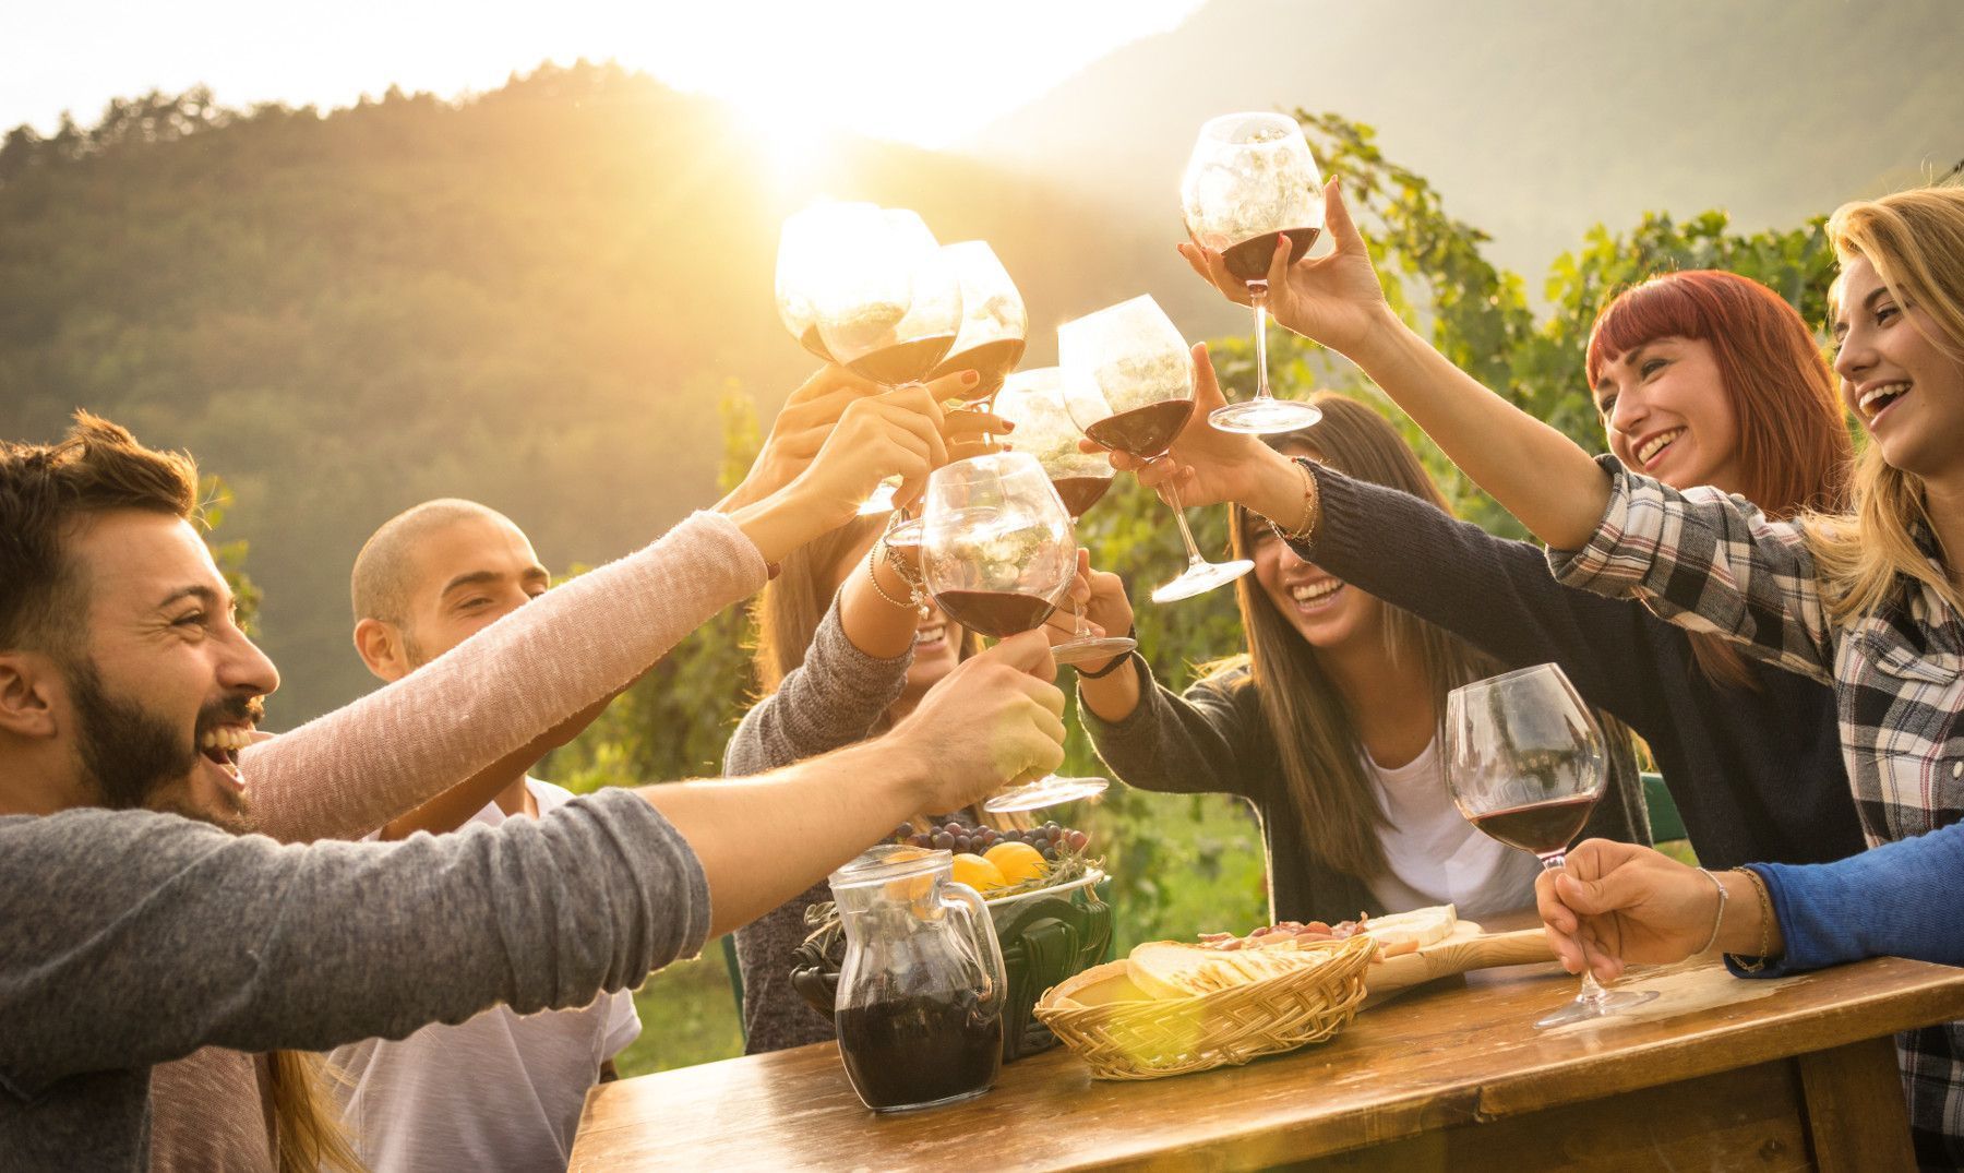
<path fill-rule="evenodd" d="M 1605 365 L 1658 338 L 1711 344 L 1738 420 L 1748 501 L 1781 519 L 1848 507 L 1854 444 L 1834 375 L 1785 299 L 1722 269 L 1652 277 L 1597 314 L 1589 328 L 1589 385 Z"/>

